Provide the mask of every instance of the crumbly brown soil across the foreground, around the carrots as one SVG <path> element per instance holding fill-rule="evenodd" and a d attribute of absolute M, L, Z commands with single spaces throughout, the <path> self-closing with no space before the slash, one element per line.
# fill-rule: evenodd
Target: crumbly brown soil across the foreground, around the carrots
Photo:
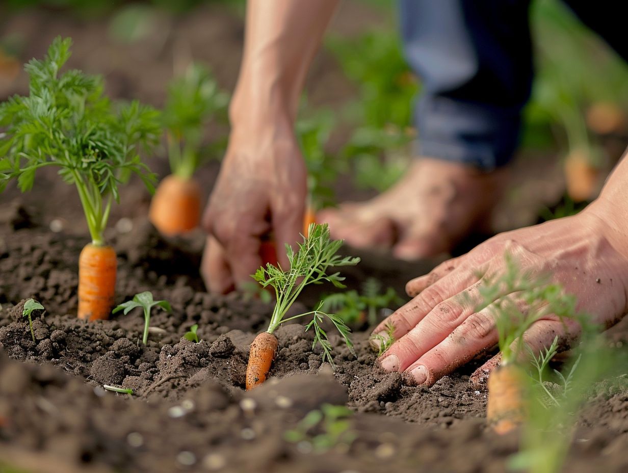
<path fill-rule="evenodd" d="M 153 311 L 145 346 L 141 310 L 78 320 L 75 268 L 84 236 L 51 234 L 16 215 L 0 231 L 6 465 L 29 472 L 472 473 L 505 471 L 517 450 L 516 433 L 499 437 L 485 427 L 486 394 L 468 383 L 481 360 L 432 388 L 405 386 L 398 373 L 376 367 L 367 332 L 354 334 L 357 357 L 335 351 L 332 371 L 301 325 L 281 327 L 269 381 L 246 393 L 248 347 L 271 308 L 241 294 L 205 293 L 190 276 L 198 274 L 198 247 L 166 241 L 144 220 L 109 235 L 119 255 L 116 302 L 151 290 L 172 311 Z M 377 272 L 374 259 L 360 264 Z M 34 314 L 35 342 L 21 317 L 27 297 L 46 307 Z M 193 324 L 198 343 L 183 337 Z M 338 437 L 318 425 L 291 438 L 323 405 L 354 412 Z M 593 399 L 582 418 L 565 471 L 625 471 L 628 393 Z"/>

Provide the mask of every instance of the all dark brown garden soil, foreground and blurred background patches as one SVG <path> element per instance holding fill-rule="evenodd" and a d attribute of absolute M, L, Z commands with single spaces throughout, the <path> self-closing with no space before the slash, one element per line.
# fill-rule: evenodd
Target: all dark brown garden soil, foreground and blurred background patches
<path fill-rule="evenodd" d="M 347 5 L 336 28 L 355 32 L 377 23 L 368 9 Z M 57 34 L 72 35 L 82 45 L 73 65 L 90 72 L 102 72 L 106 65 L 116 96 L 159 104 L 180 35 L 187 35 L 195 57 L 215 65 L 225 87 L 236 77 L 242 22 L 225 9 L 205 8 L 169 24 L 165 46 L 148 48 L 148 57 L 141 55 L 146 45 L 123 55 L 120 46 L 102 41 L 102 24 L 28 15 L 0 25 L 5 33 L 21 28 L 25 36 L 40 38 L 28 44 L 25 55 L 40 56 Z M 220 48 L 207 48 L 207 35 Z M 317 103 L 338 102 L 352 90 L 330 61 L 322 55 L 313 69 Z M 20 87 L 23 82 L 6 90 Z M 153 161 L 163 173 L 164 161 Z M 529 167 L 544 173 L 547 166 L 539 161 Z M 216 171 L 215 163 L 202 170 L 206 192 Z M 312 349 L 311 334 L 286 325 L 276 332 L 279 352 L 269 381 L 246 393 L 248 347 L 268 323 L 270 307 L 241 294 L 206 293 L 198 276 L 202 232 L 174 241 L 160 237 L 146 222 L 149 198 L 139 185 L 124 190 L 107 233 L 118 255 L 116 303 L 150 290 L 156 299 L 170 301 L 172 311 L 153 311 L 146 346 L 139 309 L 107 321 L 77 320 L 78 254 L 88 241 L 80 205 L 75 190 L 58 183 L 54 173 L 39 173 L 37 182 L 31 194 L 17 197 L 9 188 L 0 196 L 0 472 L 7 465 L 31 473 L 506 470 L 517 450 L 517 433 L 498 437 L 485 427 L 486 394 L 468 383 L 482 360 L 430 389 L 405 386 L 399 374 L 375 366 L 367 331 L 354 334 L 357 357 L 346 349 L 335 352 L 332 371 Z M 60 231 L 50 231 L 53 220 Z M 352 254 L 363 261 L 345 271 L 350 286 L 372 276 L 399 293 L 409 278 L 436 263 Z M 318 296 L 305 294 L 300 308 L 311 307 Z M 33 321 L 35 342 L 21 317 L 21 304 L 30 297 L 46 307 Z M 195 323 L 198 344 L 183 338 Z M 626 325 L 615 330 L 615 344 L 627 341 Z M 337 337 L 332 342 L 337 344 Z M 106 391 L 104 384 L 134 394 Z M 354 412 L 353 442 L 338 442 L 321 454 L 311 443 L 284 440 L 286 431 L 323 403 L 347 405 Z M 628 393 L 592 398 L 575 439 L 565 472 L 626 471 Z"/>

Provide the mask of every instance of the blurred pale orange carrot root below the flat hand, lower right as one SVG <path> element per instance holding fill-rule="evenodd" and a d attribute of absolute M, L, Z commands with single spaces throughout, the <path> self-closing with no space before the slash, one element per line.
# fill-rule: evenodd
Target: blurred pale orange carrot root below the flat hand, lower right
<path fill-rule="evenodd" d="M 511 432 L 524 418 L 524 376 L 516 364 L 497 366 L 490 372 L 486 417 L 499 434 Z"/>

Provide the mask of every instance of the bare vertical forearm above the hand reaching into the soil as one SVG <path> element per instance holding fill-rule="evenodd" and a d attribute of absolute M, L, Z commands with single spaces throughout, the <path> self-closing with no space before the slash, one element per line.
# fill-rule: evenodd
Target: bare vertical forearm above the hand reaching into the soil
<path fill-rule="evenodd" d="M 230 106 L 233 126 L 273 117 L 294 121 L 306 72 L 337 3 L 248 1 L 244 57 Z"/>

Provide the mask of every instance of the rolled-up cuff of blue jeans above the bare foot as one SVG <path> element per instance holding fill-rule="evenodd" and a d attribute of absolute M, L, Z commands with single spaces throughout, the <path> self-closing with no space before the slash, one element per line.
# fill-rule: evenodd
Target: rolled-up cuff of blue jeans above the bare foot
<path fill-rule="evenodd" d="M 519 139 L 521 111 L 424 96 L 418 102 L 416 123 L 421 156 L 490 171 L 511 160 Z"/>

